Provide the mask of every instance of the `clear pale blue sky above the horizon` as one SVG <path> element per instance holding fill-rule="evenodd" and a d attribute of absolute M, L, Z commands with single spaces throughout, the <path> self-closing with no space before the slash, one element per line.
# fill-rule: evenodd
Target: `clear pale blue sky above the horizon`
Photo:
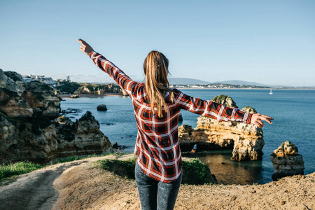
<path fill-rule="evenodd" d="M 315 85 L 315 1 L 0 1 L 0 69 L 111 79 L 83 38 L 134 80 L 151 50 L 172 77 Z"/>

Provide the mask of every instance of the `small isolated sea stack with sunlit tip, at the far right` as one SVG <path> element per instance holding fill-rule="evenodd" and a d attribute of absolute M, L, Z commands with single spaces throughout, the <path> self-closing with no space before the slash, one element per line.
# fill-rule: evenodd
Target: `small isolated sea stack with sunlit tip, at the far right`
<path fill-rule="evenodd" d="M 297 154 L 297 147 L 285 141 L 277 148 L 270 160 L 274 165 L 274 174 L 272 174 L 272 180 L 277 181 L 285 176 L 293 176 L 304 174 L 304 161 L 302 155 Z"/>

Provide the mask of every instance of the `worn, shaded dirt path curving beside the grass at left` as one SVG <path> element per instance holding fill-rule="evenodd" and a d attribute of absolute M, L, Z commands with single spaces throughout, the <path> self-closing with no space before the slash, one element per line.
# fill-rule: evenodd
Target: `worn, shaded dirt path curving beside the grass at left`
<path fill-rule="evenodd" d="M 67 169 L 107 158 L 125 159 L 131 157 L 132 155 L 109 155 L 88 158 L 59 163 L 29 174 L 23 174 L 18 177 L 17 181 L 0 187 L 0 209 L 52 209 L 52 205 L 55 204 L 59 196 L 58 190 L 52 186 L 52 183 Z"/>

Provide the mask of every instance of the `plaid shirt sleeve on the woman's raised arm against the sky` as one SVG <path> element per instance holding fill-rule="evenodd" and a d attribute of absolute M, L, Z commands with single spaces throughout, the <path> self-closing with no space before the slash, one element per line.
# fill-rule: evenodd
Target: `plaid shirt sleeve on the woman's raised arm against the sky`
<path fill-rule="evenodd" d="M 129 76 L 120 70 L 115 64 L 106 59 L 103 55 L 98 52 L 90 52 L 90 58 L 93 60 L 94 64 L 99 66 L 99 69 L 108 73 L 113 80 L 128 94 L 132 94 L 134 87 L 137 85 L 137 82 L 132 80 Z"/>

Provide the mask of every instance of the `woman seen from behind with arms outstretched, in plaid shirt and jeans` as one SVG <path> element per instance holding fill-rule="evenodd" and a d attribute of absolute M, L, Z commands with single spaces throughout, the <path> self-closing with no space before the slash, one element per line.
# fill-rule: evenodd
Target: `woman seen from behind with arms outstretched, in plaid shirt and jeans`
<path fill-rule="evenodd" d="M 181 109 L 221 121 L 234 120 L 263 127 L 272 124 L 269 116 L 244 113 L 239 109 L 190 97 L 170 89 L 167 80 L 169 60 L 152 51 L 144 60 L 146 83 L 130 79 L 85 41 L 80 50 L 111 76 L 130 95 L 137 121 L 138 135 L 135 176 L 142 209 L 174 209 L 182 178 L 181 150 L 178 141 L 178 116 Z"/>

